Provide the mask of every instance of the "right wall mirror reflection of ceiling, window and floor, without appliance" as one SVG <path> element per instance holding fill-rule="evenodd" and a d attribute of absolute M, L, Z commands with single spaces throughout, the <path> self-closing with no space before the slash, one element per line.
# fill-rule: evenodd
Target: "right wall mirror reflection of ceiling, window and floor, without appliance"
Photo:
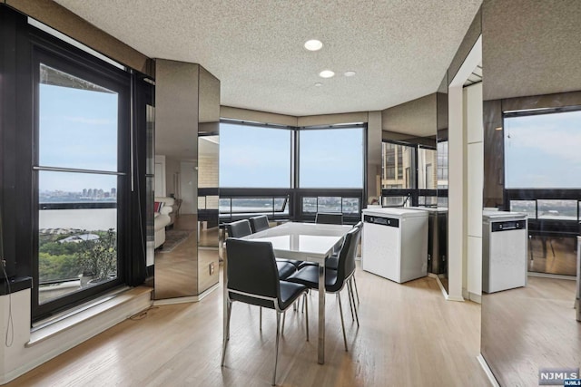
<path fill-rule="evenodd" d="M 581 8 L 529 5 L 485 1 L 482 15 L 484 207 L 518 211 L 528 221 L 520 261 L 526 285 L 482 295 L 481 353 L 500 385 L 546 384 L 543 369 L 578 372 L 581 363 L 575 310 L 581 73 L 578 50 L 562 48 L 578 45 Z M 527 43 L 518 42 L 524 35 Z M 507 60 L 507 53 L 519 54 Z"/>

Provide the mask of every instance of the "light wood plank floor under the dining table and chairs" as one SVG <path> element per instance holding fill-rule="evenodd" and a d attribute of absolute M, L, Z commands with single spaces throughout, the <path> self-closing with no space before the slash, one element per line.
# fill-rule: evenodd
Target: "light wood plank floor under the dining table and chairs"
<path fill-rule="evenodd" d="M 433 278 L 399 285 L 358 268 L 360 327 L 346 292 L 343 349 L 339 307 L 327 296 L 326 363 L 317 363 L 317 296 L 304 314 L 287 312 L 277 384 L 285 386 L 487 386 L 476 359 L 480 306 L 447 302 Z M 235 303 L 221 368 L 222 290 L 196 304 L 162 305 L 126 320 L 44 363 L 8 386 L 268 386 L 276 324 L 265 311 Z"/>

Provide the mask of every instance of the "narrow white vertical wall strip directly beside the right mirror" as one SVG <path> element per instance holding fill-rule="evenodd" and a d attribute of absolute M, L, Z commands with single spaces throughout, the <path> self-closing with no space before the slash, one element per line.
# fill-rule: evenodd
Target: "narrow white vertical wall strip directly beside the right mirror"
<path fill-rule="evenodd" d="M 468 156 L 468 243 L 462 293 L 480 302 L 482 295 L 482 196 L 484 184 L 484 128 L 482 83 L 464 88 L 464 125 Z"/>

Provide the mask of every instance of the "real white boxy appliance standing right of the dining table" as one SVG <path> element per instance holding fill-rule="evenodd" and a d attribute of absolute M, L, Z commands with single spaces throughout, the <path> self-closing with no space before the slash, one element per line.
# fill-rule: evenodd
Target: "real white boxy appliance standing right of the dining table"
<path fill-rule="evenodd" d="M 428 274 L 428 212 L 366 208 L 363 212 L 363 270 L 403 283 Z"/>

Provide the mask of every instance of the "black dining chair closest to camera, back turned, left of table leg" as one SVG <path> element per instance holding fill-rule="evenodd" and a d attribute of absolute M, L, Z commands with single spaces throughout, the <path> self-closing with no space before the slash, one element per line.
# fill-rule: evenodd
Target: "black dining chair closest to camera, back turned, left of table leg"
<path fill-rule="evenodd" d="M 281 281 L 271 242 L 229 238 L 226 249 L 228 252 L 226 268 L 227 320 L 222 338 L 222 367 L 226 355 L 226 343 L 230 340 L 232 303 L 239 301 L 274 309 L 276 311 L 276 345 L 272 385 L 275 385 L 279 361 L 281 314 L 293 305 L 300 295 L 307 295 L 309 289 L 305 285 Z M 307 341 L 309 341 L 309 310 L 305 310 L 305 328 Z"/>

